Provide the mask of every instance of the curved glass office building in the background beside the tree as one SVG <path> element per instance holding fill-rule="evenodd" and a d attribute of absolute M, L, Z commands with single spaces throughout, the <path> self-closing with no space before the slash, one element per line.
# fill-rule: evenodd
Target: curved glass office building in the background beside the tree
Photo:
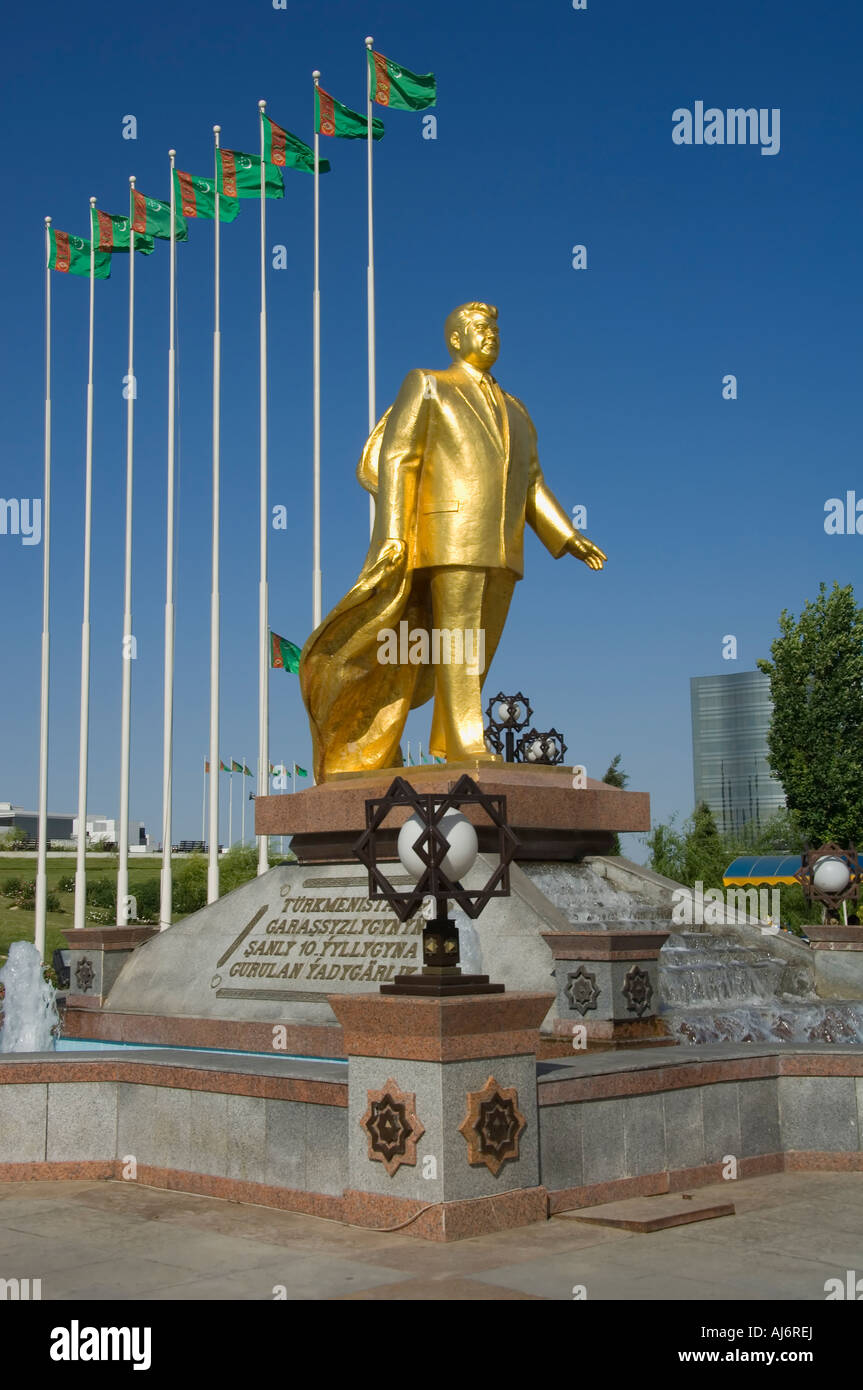
<path fill-rule="evenodd" d="M 706 802 L 724 833 L 763 824 L 785 806 L 767 766 L 770 681 L 762 671 L 730 671 L 693 676 L 689 688 L 695 805 Z"/>

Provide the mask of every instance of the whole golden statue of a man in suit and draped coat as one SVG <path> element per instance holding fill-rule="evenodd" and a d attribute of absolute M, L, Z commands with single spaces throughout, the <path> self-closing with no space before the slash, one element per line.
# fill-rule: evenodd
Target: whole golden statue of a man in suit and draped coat
<path fill-rule="evenodd" d="M 407 714 L 432 695 L 432 756 L 500 762 L 485 746 L 482 685 L 524 573 L 525 521 L 556 559 L 607 559 L 546 486 L 531 417 L 491 375 L 498 310 L 461 304 L 445 336 L 452 367 L 410 371 L 363 450 L 357 477 L 377 496 L 368 555 L 303 649 L 318 783 L 400 766 Z"/>

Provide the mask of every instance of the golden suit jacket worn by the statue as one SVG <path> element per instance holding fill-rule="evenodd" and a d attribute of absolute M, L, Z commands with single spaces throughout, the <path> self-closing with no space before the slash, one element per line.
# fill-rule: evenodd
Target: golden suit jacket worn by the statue
<path fill-rule="evenodd" d="M 493 379 L 493 378 L 492 378 Z M 481 566 L 524 574 L 524 524 L 557 559 L 575 534 L 549 491 L 523 403 L 453 364 L 411 371 L 357 468 L 377 495 L 372 543 L 407 545 L 407 567 Z"/>

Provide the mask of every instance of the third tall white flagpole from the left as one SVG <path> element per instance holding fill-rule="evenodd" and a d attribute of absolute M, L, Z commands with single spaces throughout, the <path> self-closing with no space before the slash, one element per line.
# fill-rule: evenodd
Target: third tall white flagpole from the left
<path fill-rule="evenodd" d="M 135 441 L 135 175 L 129 175 L 129 370 L 126 377 L 126 537 L 122 613 L 122 710 L 120 731 L 120 841 L 117 926 L 129 920 L 129 746 L 132 724 L 132 475 Z"/>

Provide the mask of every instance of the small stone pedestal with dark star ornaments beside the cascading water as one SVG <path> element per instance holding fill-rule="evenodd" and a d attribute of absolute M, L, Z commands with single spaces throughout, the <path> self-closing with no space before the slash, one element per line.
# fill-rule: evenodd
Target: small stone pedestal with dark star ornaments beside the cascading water
<path fill-rule="evenodd" d="M 554 958 L 557 1011 L 554 1033 L 571 1037 L 584 1029 L 589 1042 L 632 1047 L 674 1045 L 657 1017 L 659 952 L 667 931 L 616 930 L 616 923 L 580 931 L 542 934 Z"/>

